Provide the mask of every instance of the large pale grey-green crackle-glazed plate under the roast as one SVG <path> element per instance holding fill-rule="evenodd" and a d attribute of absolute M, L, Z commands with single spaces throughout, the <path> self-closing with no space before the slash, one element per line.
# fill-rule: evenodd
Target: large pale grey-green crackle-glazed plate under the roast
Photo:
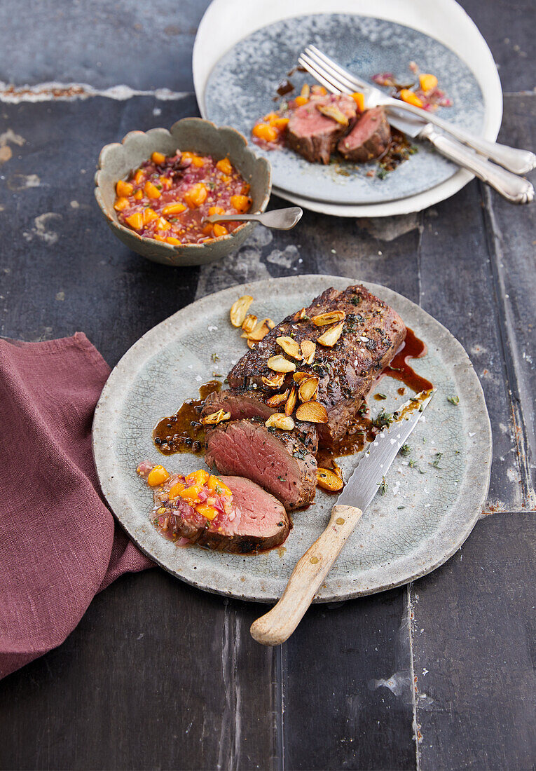
<path fill-rule="evenodd" d="M 145 458 L 170 471 L 188 473 L 204 464 L 198 456 L 161 456 L 151 429 L 172 415 L 184 399 L 197 395 L 214 367 L 228 372 L 246 350 L 231 327 L 229 308 L 244 294 L 255 298 L 252 311 L 275 320 L 302 308 L 325 288 L 356 281 L 334 276 L 275 278 L 225 289 L 178 311 L 143 335 L 113 369 L 96 407 L 93 453 L 100 484 L 113 512 L 133 540 L 168 571 L 207 591 L 236 598 L 273 601 L 281 595 L 298 558 L 319 536 L 335 499 L 319 490 L 308 510 L 294 515 L 285 546 L 266 554 L 221 554 L 199 547 L 180 548 L 165 540 L 149 521 L 150 490 L 136 475 Z M 397 457 L 388 488 L 376 496 L 326 578 L 319 601 L 343 600 L 382 591 L 432 571 L 464 542 L 480 516 L 487 495 L 491 433 L 480 382 L 450 332 L 413 302 L 377 284 L 367 287 L 399 311 L 426 341 L 429 353 L 415 368 L 437 387 L 437 394 L 411 436 L 411 458 Z M 217 364 L 212 354 L 220 357 Z M 372 399 L 376 409 L 399 405 L 399 382 L 384 378 Z M 459 406 L 447 396 L 460 396 Z M 432 466 L 440 457 L 440 466 Z M 347 478 L 359 455 L 343 458 Z M 417 467 L 418 466 L 418 467 Z M 424 473 L 420 473 L 422 470 Z"/>

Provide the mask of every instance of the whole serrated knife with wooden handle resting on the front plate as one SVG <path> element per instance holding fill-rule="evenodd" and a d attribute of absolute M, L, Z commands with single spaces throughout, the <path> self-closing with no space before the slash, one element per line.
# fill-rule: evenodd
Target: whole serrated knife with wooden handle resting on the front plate
<path fill-rule="evenodd" d="M 432 397 L 433 391 L 428 391 L 410 399 L 369 444 L 332 508 L 328 527 L 299 559 L 278 603 L 251 625 L 251 637 L 261 645 L 280 645 L 302 621 L 363 511 L 379 490 L 385 490 L 389 466 Z"/>

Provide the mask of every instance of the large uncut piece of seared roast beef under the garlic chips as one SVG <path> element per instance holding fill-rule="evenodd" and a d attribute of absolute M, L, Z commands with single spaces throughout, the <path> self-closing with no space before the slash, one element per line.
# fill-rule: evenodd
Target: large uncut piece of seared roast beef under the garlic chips
<path fill-rule="evenodd" d="M 262 378 L 273 375 L 267 366 L 268 359 L 283 353 L 276 339 L 284 336 L 296 342 L 316 342 L 329 327 L 315 326 L 309 319 L 329 311 L 346 313 L 339 340 L 332 348 L 317 344 L 312 365 L 295 362 L 299 372 L 319 378 L 316 400 L 328 412 L 328 423 L 317 424 L 321 446 L 329 446 L 347 433 L 362 399 L 402 345 L 406 327 L 393 308 L 360 284 L 343 291 L 326 289 L 305 309 L 302 321 L 295 321 L 295 314 L 287 316 L 242 356 L 228 375 L 232 389 L 250 389 L 253 385 L 263 389 Z M 288 388 L 289 383 L 292 375 L 286 375 L 281 390 Z"/>

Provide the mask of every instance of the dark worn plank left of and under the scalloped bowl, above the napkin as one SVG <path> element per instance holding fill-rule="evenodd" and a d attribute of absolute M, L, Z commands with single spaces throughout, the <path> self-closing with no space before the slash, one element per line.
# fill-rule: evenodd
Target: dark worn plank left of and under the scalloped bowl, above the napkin
<path fill-rule="evenodd" d="M 143 332 L 194 298 L 197 268 L 152 263 L 106 227 L 93 173 L 105 143 L 134 127 L 170 126 L 195 109 L 192 97 L 2 106 L 5 129 L 22 144 L 8 143 L 13 155 L 2 166 L 0 224 L 8 248 L 0 254 L 0 334 L 39 340 L 80 329 L 113 365 Z"/>

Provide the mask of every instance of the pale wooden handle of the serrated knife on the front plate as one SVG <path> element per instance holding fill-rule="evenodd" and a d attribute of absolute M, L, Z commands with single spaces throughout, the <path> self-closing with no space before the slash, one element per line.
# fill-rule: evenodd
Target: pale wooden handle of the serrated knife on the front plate
<path fill-rule="evenodd" d="M 328 527 L 299 559 L 281 599 L 251 625 L 254 640 L 261 645 L 281 645 L 292 635 L 361 514 L 353 506 L 332 508 Z"/>

